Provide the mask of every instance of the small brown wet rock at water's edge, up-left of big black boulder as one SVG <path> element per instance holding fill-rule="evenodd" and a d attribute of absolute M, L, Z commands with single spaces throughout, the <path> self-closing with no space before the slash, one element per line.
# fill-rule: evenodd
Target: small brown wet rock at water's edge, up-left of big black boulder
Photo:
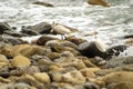
<path fill-rule="evenodd" d="M 65 40 L 71 41 L 71 42 L 73 42 L 76 46 L 79 46 L 80 43 L 86 42 L 86 40 L 76 38 L 74 36 L 65 37 Z"/>

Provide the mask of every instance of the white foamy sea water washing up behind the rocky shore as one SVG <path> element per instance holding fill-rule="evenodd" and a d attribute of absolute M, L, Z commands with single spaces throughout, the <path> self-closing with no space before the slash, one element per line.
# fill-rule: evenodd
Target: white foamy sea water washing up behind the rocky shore
<path fill-rule="evenodd" d="M 80 33 L 75 34 L 88 40 L 94 40 L 94 37 L 86 33 L 98 31 L 96 37 L 108 46 L 123 43 L 119 37 L 133 33 L 133 0 L 106 0 L 110 8 L 88 4 L 88 0 L 40 0 L 54 4 L 54 8 L 32 4 L 33 1 L 0 0 L 0 21 L 18 29 L 55 21 L 79 29 Z M 132 47 L 124 52 L 133 55 Z"/>

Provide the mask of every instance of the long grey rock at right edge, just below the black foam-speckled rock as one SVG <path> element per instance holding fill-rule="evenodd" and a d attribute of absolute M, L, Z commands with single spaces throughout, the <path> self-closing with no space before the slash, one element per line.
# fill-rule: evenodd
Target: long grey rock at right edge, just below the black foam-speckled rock
<path fill-rule="evenodd" d="M 133 56 L 129 57 L 117 57 L 106 61 L 105 68 L 115 68 L 122 65 L 132 65 L 133 63 Z"/>

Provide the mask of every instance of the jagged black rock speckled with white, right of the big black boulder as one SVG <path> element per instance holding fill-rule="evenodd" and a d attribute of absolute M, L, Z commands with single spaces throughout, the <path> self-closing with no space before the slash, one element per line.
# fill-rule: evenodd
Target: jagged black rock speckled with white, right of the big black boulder
<path fill-rule="evenodd" d="M 126 49 L 126 46 L 120 44 L 120 46 L 113 46 L 106 49 L 105 51 L 105 58 L 111 59 L 113 56 L 119 56 L 121 52 L 123 52 Z"/>

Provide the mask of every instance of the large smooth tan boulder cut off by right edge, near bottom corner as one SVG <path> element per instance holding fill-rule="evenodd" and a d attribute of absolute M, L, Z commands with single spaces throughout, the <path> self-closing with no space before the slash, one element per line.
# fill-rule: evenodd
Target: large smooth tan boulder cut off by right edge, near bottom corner
<path fill-rule="evenodd" d="M 129 71 L 112 72 L 104 76 L 101 80 L 104 81 L 106 85 L 120 81 L 133 82 L 133 72 Z"/>

